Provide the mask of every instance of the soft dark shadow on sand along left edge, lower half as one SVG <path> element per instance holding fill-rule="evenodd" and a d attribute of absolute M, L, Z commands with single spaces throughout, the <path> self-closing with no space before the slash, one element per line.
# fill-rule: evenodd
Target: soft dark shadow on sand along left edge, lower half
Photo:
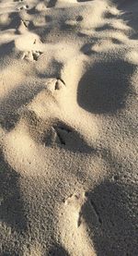
<path fill-rule="evenodd" d="M 18 233 L 25 232 L 27 220 L 19 188 L 19 175 L 0 155 L 0 220 Z"/>

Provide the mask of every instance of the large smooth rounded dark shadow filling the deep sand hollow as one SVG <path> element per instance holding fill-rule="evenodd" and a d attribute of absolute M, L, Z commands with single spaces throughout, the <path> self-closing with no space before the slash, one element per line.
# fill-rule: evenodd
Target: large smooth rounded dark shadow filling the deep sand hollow
<path fill-rule="evenodd" d="M 113 113 L 125 106 L 132 93 L 130 77 L 135 67 L 121 59 L 98 62 L 80 79 L 78 104 L 91 113 Z"/>

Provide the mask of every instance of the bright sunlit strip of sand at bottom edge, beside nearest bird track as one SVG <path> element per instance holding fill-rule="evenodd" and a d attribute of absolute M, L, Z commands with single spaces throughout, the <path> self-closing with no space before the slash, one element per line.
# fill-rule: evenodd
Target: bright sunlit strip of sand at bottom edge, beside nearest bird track
<path fill-rule="evenodd" d="M 70 252 L 70 255 L 74 255 L 72 253 L 74 251 L 76 252 L 75 255 L 97 255 L 92 241 L 89 238 L 87 239 L 87 226 L 84 218 L 85 205 L 86 196 L 83 191 L 75 192 L 63 204 L 60 223 L 62 228 L 61 239 L 65 249 Z M 67 239 L 65 238 L 66 235 Z"/>

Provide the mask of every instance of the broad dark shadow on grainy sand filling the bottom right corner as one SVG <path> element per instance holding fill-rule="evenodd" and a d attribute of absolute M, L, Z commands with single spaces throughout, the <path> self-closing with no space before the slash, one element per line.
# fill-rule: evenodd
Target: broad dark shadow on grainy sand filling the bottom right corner
<path fill-rule="evenodd" d="M 105 180 L 86 192 L 83 217 L 98 256 L 137 255 L 138 189 Z"/>

